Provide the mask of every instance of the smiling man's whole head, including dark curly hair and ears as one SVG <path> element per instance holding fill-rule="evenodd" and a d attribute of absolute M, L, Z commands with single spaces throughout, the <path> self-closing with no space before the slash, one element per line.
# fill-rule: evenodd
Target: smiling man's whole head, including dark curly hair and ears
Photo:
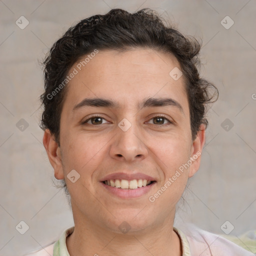
<path fill-rule="evenodd" d="M 117 230 L 143 204 L 134 231 L 173 216 L 199 168 L 212 88 L 217 96 L 199 76 L 199 49 L 147 9 L 94 15 L 53 44 L 44 61 L 43 143 L 77 221 L 97 215 Z M 109 196 L 102 181 L 116 173 L 153 182 L 139 197 Z"/>

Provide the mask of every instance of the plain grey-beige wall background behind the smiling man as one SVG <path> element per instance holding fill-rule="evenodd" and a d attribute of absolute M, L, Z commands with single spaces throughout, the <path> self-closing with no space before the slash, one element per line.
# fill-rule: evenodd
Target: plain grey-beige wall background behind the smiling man
<path fill-rule="evenodd" d="M 201 75 L 219 89 L 208 111 L 202 164 L 175 225 L 188 221 L 223 234 L 220 226 L 228 220 L 233 235 L 256 229 L 255 0 L 0 0 L 0 255 L 41 248 L 73 224 L 42 145 L 38 60 L 69 26 L 116 7 L 153 8 L 182 32 L 201 37 Z M 21 15 L 29 21 L 24 29 L 15 24 Z M 227 15 L 234 21 L 229 29 L 221 24 Z M 23 120 L 16 126 L 21 118 L 28 124 L 23 131 Z M 221 125 L 226 118 L 229 124 Z M 29 226 L 23 235 L 15 229 L 21 220 Z"/>

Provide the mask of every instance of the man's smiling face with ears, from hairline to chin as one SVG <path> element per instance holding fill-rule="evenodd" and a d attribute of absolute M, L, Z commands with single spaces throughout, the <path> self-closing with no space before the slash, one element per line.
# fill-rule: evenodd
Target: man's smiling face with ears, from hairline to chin
<path fill-rule="evenodd" d="M 74 222 L 115 232 L 121 223 L 137 232 L 172 222 L 204 143 L 203 127 L 191 138 L 183 77 L 169 75 L 178 61 L 151 49 L 100 50 L 81 70 L 77 64 L 60 147 L 48 131 L 43 139 L 55 177 L 66 180 Z"/>

